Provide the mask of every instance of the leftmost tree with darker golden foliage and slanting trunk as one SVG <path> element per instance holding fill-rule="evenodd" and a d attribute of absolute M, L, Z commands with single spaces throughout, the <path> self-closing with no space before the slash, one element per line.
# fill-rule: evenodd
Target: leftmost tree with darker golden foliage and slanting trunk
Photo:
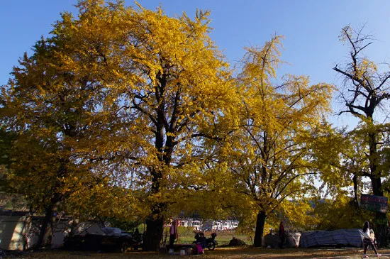
<path fill-rule="evenodd" d="M 107 86 L 118 79 L 102 52 L 108 49 L 109 35 L 91 19 L 96 15 L 107 21 L 119 6 L 95 10 L 99 13 L 82 13 L 82 6 L 77 22 L 62 13 L 50 38 L 39 40 L 33 55 L 25 54 L 9 84 L 1 86 L 1 128 L 17 134 L 9 183 L 26 195 L 32 211 L 45 213 L 37 246 L 59 206 L 75 193 L 69 186 L 79 187 L 80 175 L 94 180 L 90 186 L 102 181 L 92 170 L 98 160 L 92 151 L 99 142 L 91 142 L 91 136 L 99 139 L 99 133 L 113 130 L 107 121 L 114 118 L 104 107 L 115 106 Z M 107 23 L 104 28 L 109 31 Z"/>

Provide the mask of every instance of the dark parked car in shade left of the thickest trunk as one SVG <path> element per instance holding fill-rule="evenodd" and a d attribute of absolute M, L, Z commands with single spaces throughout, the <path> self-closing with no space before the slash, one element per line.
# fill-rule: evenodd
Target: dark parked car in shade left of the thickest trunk
<path fill-rule="evenodd" d="M 69 250 L 115 250 L 125 253 L 128 248 L 142 246 L 142 236 L 121 231 L 120 228 L 101 228 L 102 233 L 80 233 L 67 236 L 64 248 Z"/>

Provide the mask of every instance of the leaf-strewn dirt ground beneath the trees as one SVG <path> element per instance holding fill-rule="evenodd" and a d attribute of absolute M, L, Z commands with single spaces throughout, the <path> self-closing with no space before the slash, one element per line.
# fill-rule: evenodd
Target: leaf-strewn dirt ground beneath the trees
<path fill-rule="evenodd" d="M 286 249 L 267 249 L 267 248 L 216 248 L 213 251 L 205 251 L 204 255 L 169 255 L 165 253 L 148 253 L 142 251 L 128 251 L 127 253 L 96 253 L 79 252 L 64 250 L 44 250 L 37 252 L 21 253 L 18 256 L 11 255 L 6 258 L 84 258 L 84 259 L 102 259 L 102 258 L 135 258 L 135 259 L 157 259 L 157 258 L 204 258 L 204 259 L 242 259 L 242 258 L 267 258 L 267 259 L 357 259 L 362 258 L 363 250 L 361 248 L 286 248 Z M 379 253 L 381 258 L 390 258 L 390 249 L 381 249 Z M 370 258 L 376 258 L 373 250 L 368 250 Z"/>

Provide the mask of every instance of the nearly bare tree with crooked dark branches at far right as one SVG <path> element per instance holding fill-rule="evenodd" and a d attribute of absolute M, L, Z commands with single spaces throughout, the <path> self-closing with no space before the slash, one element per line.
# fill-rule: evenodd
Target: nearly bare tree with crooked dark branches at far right
<path fill-rule="evenodd" d="M 363 27 L 364 28 L 364 27 Z M 387 111 L 386 104 L 390 99 L 389 70 L 381 70 L 381 66 L 364 56 L 364 51 L 372 44 L 372 36 L 364 35 L 363 28 L 355 30 L 350 26 L 342 28 L 340 40 L 349 48 L 349 57 L 345 63 L 338 64 L 333 70 L 343 79 L 340 87 L 340 98 L 345 104 L 345 109 L 340 114 L 350 114 L 360 120 L 359 132 L 363 138 L 361 150 L 365 150 L 366 168 L 358 172 L 368 177 L 371 182 L 372 194 L 384 196 L 384 186 L 381 178 L 388 177 L 386 167 L 381 166 L 384 156 L 381 150 L 389 144 L 383 138 L 386 125 L 379 124 L 376 120 L 385 123 Z M 384 111 L 380 114 L 380 111 Z M 383 119 L 381 118 L 383 115 Z M 380 215 L 377 215 L 380 217 Z M 380 225 L 379 246 L 385 245 L 386 227 Z"/>

